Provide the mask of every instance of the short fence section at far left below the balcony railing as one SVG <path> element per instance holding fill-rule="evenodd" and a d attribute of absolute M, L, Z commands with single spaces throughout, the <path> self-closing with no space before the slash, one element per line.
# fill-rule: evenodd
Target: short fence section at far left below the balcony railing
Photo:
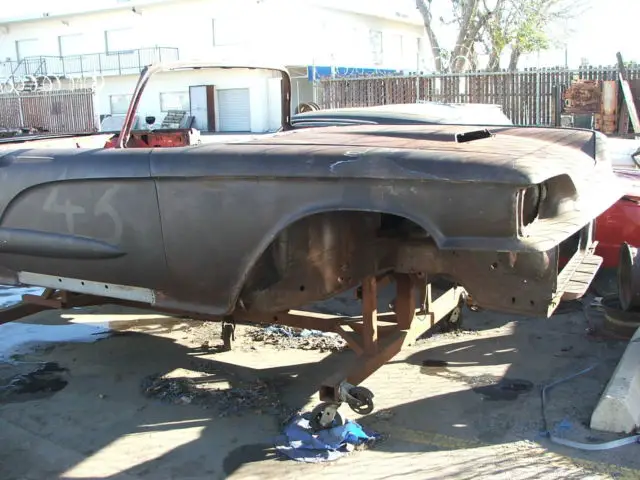
<path fill-rule="evenodd" d="M 0 127 L 52 133 L 97 131 L 93 95 L 90 88 L 0 94 Z"/>

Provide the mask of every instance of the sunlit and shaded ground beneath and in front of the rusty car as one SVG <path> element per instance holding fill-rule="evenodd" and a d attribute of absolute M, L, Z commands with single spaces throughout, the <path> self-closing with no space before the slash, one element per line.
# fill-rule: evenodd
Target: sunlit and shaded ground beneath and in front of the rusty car
<path fill-rule="evenodd" d="M 354 309 L 348 296 L 319 307 Z M 67 370 L 51 375 L 67 383 L 55 393 L 0 400 L 0 479 L 638 479 L 639 445 L 582 452 L 539 433 L 541 387 L 597 365 L 550 393 L 549 426 L 578 441 L 618 438 L 588 429 L 626 346 L 594 335 L 595 317 L 580 309 L 550 319 L 465 311 L 461 333 L 420 340 L 366 380 L 373 413 L 360 417 L 342 407 L 383 441 L 335 462 L 304 464 L 278 457 L 273 438 L 289 412 L 317 403 L 318 385 L 350 351 L 278 348 L 239 326 L 234 350 L 221 352 L 217 324 L 117 307 L 44 312 L 25 321 L 109 322 L 116 334 L 20 357 L 57 362 Z M 0 365 L 0 384 L 25 368 L 33 370 Z M 163 401 L 144 393 L 153 375 L 190 378 L 221 395 L 259 388 L 259 380 L 276 395 L 248 404 L 213 397 L 223 398 L 224 408 L 180 393 Z M 505 379 L 531 388 L 497 388 Z"/>

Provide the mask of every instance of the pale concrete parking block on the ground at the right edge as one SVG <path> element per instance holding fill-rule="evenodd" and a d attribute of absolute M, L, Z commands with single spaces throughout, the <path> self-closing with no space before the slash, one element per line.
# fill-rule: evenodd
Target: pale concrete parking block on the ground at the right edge
<path fill-rule="evenodd" d="M 640 426 L 640 328 L 629 341 L 620 363 L 591 415 L 591 428 L 631 433 Z"/>

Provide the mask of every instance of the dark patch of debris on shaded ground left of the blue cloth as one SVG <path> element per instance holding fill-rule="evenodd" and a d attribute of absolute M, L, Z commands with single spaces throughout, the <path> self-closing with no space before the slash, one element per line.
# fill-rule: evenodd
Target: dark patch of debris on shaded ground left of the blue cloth
<path fill-rule="evenodd" d="M 187 372 L 187 371 L 185 371 Z M 211 375 L 170 376 L 150 375 L 142 380 L 142 393 L 174 405 L 197 405 L 215 408 L 220 417 L 257 413 L 285 415 L 287 407 L 281 402 L 275 382 L 253 380 L 229 385 Z"/>

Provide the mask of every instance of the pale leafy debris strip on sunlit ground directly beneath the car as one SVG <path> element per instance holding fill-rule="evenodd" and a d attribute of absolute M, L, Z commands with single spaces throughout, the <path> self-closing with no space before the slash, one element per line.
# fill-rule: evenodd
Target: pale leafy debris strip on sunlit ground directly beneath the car
<path fill-rule="evenodd" d="M 247 335 L 255 342 L 263 342 L 279 348 L 338 352 L 347 346 L 347 343 L 337 333 L 280 325 L 251 328 L 247 332 Z"/>

